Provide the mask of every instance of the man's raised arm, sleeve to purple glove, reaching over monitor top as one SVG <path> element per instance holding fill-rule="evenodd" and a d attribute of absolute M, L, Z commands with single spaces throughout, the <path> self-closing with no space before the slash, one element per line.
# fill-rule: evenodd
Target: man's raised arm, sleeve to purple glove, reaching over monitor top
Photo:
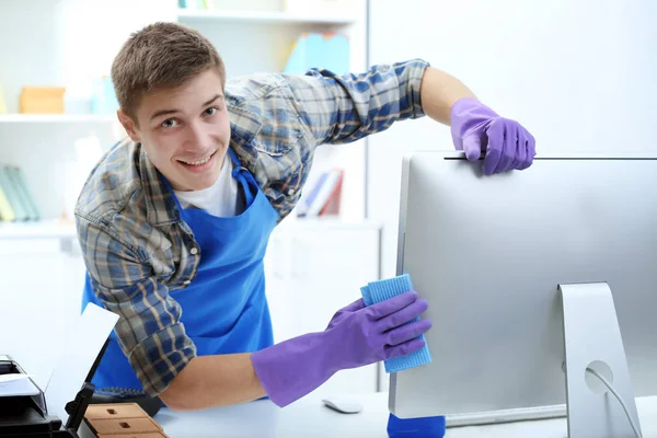
<path fill-rule="evenodd" d="M 311 70 L 286 77 L 300 118 L 318 145 L 345 143 L 425 115 L 451 126 L 454 148 L 468 159 L 484 153 L 484 173 L 527 169 L 533 137 L 498 116 L 460 80 L 418 59 L 374 66 L 360 74 Z"/>

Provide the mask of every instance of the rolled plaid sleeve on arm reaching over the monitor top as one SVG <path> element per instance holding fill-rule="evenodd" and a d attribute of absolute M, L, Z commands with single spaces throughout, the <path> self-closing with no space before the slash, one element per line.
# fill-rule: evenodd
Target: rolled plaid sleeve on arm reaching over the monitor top
<path fill-rule="evenodd" d="M 374 66 L 360 74 L 311 69 L 284 78 L 316 143 L 346 143 L 394 122 L 424 116 L 419 87 L 428 66 L 414 59 Z"/>

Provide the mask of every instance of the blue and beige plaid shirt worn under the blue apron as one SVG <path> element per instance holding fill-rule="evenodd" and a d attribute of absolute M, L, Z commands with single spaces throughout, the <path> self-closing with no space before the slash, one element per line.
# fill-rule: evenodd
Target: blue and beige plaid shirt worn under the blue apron
<path fill-rule="evenodd" d="M 263 74 L 229 81 L 230 147 L 283 220 L 295 207 L 314 148 L 346 143 L 424 116 L 427 62 L 411 60 L 335 76 Z M 145 391 L 157 395 L 196 356 L 171 290 L 200 263 L 198 244 L 141 145 L 113 147 L 91 172 L 76 208 L 94 293 L 119 315 L 115 334 Z"/>

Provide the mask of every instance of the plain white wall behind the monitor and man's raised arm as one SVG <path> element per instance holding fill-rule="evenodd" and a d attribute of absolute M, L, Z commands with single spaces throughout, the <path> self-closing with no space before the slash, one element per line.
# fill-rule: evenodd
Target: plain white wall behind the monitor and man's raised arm
<path fill-rule="evenodd" d="M 371 64 L 424 58 L 516 118 L 541 152 L 657 152 L 657 2 L 371 0 Z M 452 150 L 428 118 L 370 137 L 368 214 L 395 274 L 401 158 Z"/>

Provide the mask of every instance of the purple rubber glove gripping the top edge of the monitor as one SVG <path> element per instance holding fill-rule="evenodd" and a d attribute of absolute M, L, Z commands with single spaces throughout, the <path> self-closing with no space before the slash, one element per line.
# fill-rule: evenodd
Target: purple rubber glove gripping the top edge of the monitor
<path fill-rule="evenodd" d="M 476 99 L 465 97 L 451 107 L 451 134 L 457 150 L 470 161 L 485 152 L 486 175 L 525 170 L 533 161 L 535 140 L 518 122 L 500 117 Z"/>

